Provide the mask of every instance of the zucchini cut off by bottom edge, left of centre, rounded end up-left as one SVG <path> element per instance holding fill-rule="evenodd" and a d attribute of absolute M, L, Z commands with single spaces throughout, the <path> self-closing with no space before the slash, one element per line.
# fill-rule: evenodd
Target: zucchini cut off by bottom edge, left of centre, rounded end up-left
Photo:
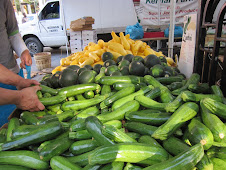
<path fill-rule="evenodd" d="M 54 156 L 50 161 L 50 166 L 53 170 L 80 170 L 81 167 L 79 167 L 76 164 L 71 163 L 67 158 L 64 158 L 62 156 Z"/>

